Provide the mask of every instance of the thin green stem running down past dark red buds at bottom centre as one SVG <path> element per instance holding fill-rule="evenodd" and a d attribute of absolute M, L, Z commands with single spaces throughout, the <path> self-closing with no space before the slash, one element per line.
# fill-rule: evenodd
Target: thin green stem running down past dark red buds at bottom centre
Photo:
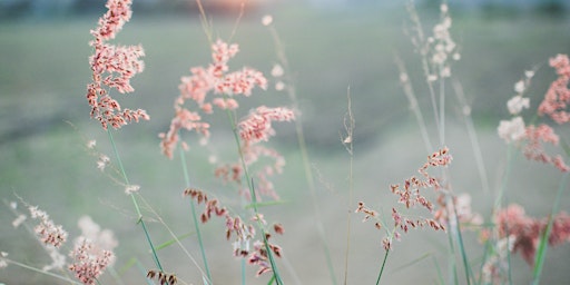
<path fill-rule="evenodd" d="M 247 180 L 247 186 L 249 188 L 249 195 L 252 196 L 254 214 L 257 217 L 259 215 L 259 213 L 257 209 L 257 195 L 255 194 L 253 178 L 250 178 L 249 171 L 247 169 L 247 165 L 245 164 L 244 151 L 242 151 L 242 144 L 239 141 L 239 136 L 237 135 L 237 127 L 236 127 L 236 124 L 234 120 L 234 116 L 232 116 L 232 111 L 229 109 L 226 109 L 226 114 L 227 114 L 229 124 L 232 126 L 232 132 L 234 132 L 234 139 L 236 141 L 237 153 L 239 154 L 239 160 L 242 160 L 242 167 L 244 168 L 244 176 L 245 176 L 245 179 Z M 277 271 L 277 265 L 275 264 L 275 257 L 273 256 L 272 249 L 269 248 L 269 243 L 267 242 L 265 227 L 263 226 L 262 220 L 259 218 L 257 218 L 257 226 L 262 230 L 263 242 L 265 245 L 265 250 L 267 252 L 267 256 L 269 258 L 269 264 L 272 266 L 273 276 L 275 277 L 277 285 L 282 285 L 283 281 L 281 279 L 279 273 Z"/>

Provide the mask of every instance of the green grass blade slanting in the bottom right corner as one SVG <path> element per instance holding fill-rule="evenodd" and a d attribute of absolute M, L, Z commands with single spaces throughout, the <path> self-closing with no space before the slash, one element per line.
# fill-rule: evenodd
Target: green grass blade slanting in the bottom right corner
<path fill-rule="evenodd" d="M 550 233 L 552 232 L 552 224 L 554 223 L 554 215 L 558 212 L 560 206 L 560 199 L 562 198 L 562 193 L 567 188 L 568 185 L 568 173 L 564 174 L 560 185 L 558 187 L 557 197 L 554 199 L 554 204 L 552 205 L 552 212 L 550 213 L 550 217 L 548 219 L 547 228 L 542 234 L 540 239 L 539 248 L 537 250 L 537 255 L 534 258 L 534 269 L 532 271 L 532 285 L 538 285 L 540 282 L 540 275 L 542 274 L 542 267 L 544 266 L 544 258 L 547 256 L 548 249 L 548 238 L 550 237 Z"/>

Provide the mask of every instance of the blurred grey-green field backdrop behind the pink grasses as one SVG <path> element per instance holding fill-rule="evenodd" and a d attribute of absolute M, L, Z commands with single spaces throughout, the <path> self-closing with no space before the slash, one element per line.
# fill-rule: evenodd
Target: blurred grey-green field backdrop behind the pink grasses
<path fill-rule="evenodd" d="M 134 258 L 153 268 L 142 232 L 135 224 L 131 202 L 122 188 L 96 169 L 97 157 L 85 148 L 87 139 L 97 139 L 98 149 L 112 157 L 107 134 L 89 118 L 85 99 L 90 80 L 89 33 L 105 12 L 102 0 L 0 0 L 0 250 L 9 257 L 42 267 L 49 256 L 24 228 L 13 228 L 14 214 L 8 204 L 16 195 L 39 205 L 51 218 L 79 234 L 77 220 L 89 215 L 102 228 L 115 232 L 119 247 L 115 269 L 125 284 L 141 284 L 145 273 L 130 264 Z M 382 2 L 382 3 L 379 3 Z M 337 281 L 344 278 L 346 223 L 352 220 L 348 257 L 348 284 L 371 284 L 383 258 L 383 233 L 372 224 L 361 224 L 360 215 L 347 214 L 358 200 L 376 209 L 390 210 L 396 199 L 389 185 L 401 183 L 424 163 L 428 155 L 420 128 L 399 82 L 394 62 L 402 58 L 414 85 L 420 106 L 429 122 L 432 140 L 433 114 L 421 61 L 406 27 L 411 21 L 403 1 L 372 0 L 249 0 L 243 17 L 240 1 L 204 0 L 214 37 L 239 45 L 240 52 L 229 62 L 232 69 L 250 66 L 269 76 L 278 62 L 276 48 L 261 19 L 274 18 L 296 88 L 308 144 L 311 167 L 316 180 L 322 223 L 331 247 Z M 529 89 L 531 108 L 535 108 L 549 83 L 556 79 L 548 59 L 570 52 L 570 2 L 540 1 L 449 1 L 453 19 L 451 33 L 460 46 L 461 60 L 452 66 L 453 78 L 461 82 L 471 106 L 478 142 L 482 149 L 489 189 L 479 178 L 472 141 L 451 86 L 446 101 L 446 146 L 454 157 L 450 173 L 454 191 L 469 193 L 473 210 L 484 217 L 493 203 L 507 167 L 507 147 L 497 136 L 497 126 L 509 114 L 505 102 L 514 95 L 513 85 L 524 70 L 538 68 Z M 425 28 L 439 20 L 439 1 L 416 1 Z M 239 18 L 238 23 L 237 19 Z M 235 30 L 235 35 L 234 35 Z M 116 95 L 125 108 L 142 108 L 150 121 L 134 124 L 114 132 L 126 170 L 142 196 L 173 228 L 175 234 L 193 232 L 189 204 L 180 199 L 184 177 L 177 157 L 160 154 L 157 134 L 166 131 L 178 96 L 181 76 L 189 68 L 210 61 L 195 1 L 136 0 L 134 17 L 115 43 L 145 48 L 146 69 L 136 76 L 135 94 Z M 348 91 L 350 89 L 350 91 Z M 343 118 L 347 111 L 347 92 L 356 120 L 354 130 L 354 200 L 348 205 L 350 155 L 342 145 Z M 240 114 L 258 105 L 292 106 L 284 91 L 256 90 L 242 101 Z M 218 114 L 223 115 L 223 114 Z M 532 115 L 529 112 L 529 119 Z M 208 118 L 217 129 L 210 141 L 220 161 L 236 159 L 235 145 L 225 115 Z M 70 124 L 72 126 L 70 126 Z M 279 262 L 286 284 L 332 284 L 322 243 L 315 227 L 314 206 L 307 188 L 293 124 L 276 127 L 271 141 L 287 160 L 283 175 L 274 179 L 285 202 L 262 212 L 268 222 L 283 223 L 285 235 L 275 238 L 283 246 Z M 568 138 L 568 130 L 560 129 Z M 239 208 L 232 186 L 213 176 L 195 137 L 186 136 L 190 177 L 226 205 Z M 553 151 L 559 151 L 553 149 Z M 561 175 L 552 167 L 525 161 L 515 156 L 509 176 L 507 200 L 521 204 L 530 216 L 550 213 Z M 568 209 L 569 195 L 561 208 Z M 145 214 L 153 216 L 144 207 Z M 20 208 L 21 210 L 22 208 Z M 387 212 L 386 212 L 387 213 Z M 150 222 L 157 244 L 170 239 L 164 227 Z M 224 220 L 204 226 L 206 248 L 215 284 L 238 284 L 239 262 L 232 256 L 225 240 Z M 465 234 L 473 264 L 482 256 L 475 234 Z M 195 235 L 183 243 L 199 259 Z M 383 281 L 385 284 L 438 283 L 436 268 L 445 273 L 446 236 L 432 230 L 416 230 L 394 245 Z M 67 249 L 63 249 L 66 252 Z M 167 272 L 187 284 L 202 284 L 200 275 L 176 245 L 160 250 Z M 425 258 L 426 257 L 426 258 Z M 567 262 L 570 246 L 549 250 L 544 284 L 570 279 Z M 514 256 L 514 284 L 528 283 L 530 267 Z M 478 267 L 474 267 L 478 268 Z M 248 284 L 267 284 L 267 276 L 253 277 Z M 446 275 L 446 274 L 444 274 Z M 65 284 L 58 279 L 10 265 L 0 269 L 4 284 Z M 101 284 L 115 284 L 110 275 Z"/>

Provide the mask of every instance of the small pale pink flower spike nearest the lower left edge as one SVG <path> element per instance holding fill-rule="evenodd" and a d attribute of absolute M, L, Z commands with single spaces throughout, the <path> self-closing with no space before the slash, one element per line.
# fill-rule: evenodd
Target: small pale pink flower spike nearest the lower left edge
<path fill-rule="evenodd" d="M 67 232 L 61 225 L 53 224 L 53 220 L 49 218 L 46 212 L 33 206 L 29 206 L 28 209 L 32 219 L 40 220 L 40 224 L 33 228 L 33 232 L 36 232 L 42 243 L 60 247 L 67 240 Z"/>

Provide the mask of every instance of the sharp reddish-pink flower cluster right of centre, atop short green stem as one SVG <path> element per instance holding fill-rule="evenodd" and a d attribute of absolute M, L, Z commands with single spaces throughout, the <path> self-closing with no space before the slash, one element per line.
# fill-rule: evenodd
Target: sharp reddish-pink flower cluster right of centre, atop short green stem
<path fill-rule="evenodd" d="M 423 188 L 434 188 L 439 190 L 442 186 L 438 178 L 431 176 L 428 173 L 430 167 L 444 167 L 451 163 L 451 155 L 449 155 L 449 149 L 443 148 L 436 153 L 433 153 L 428 157 L 428 161 L 419 169 L 419 173 L 423 176 L 423 178 L 417 178 L 412 176 L 409 179 L 404 180 L 403 189 L 400 185 L 391 185 L 390 188 L 394 195 L 400 197 L 399 203 L 403 204 L 406 209 L 415 208 L 416 205 L 420 205 L 428 209 L 430 213 L 433 213 L 433 204 L 425 198 L 420 189 Z M 358 207 L 355 210 L 356 213 L 363 213 L 364 219 L 363 222 L 368 220 L 370 218 L 376 218 L 379 215 L 377 212 L 367 208 L 363 202 L 358 203 Z M 386 229 L 389 234 L 382 240 L 384 249 L 389 250 L 392 248 L 393 238 L 400 239 L 402 230 L 403 233 L 407 233 L 411 228 L 424 227 L 429 226 L 435 230 L 442 229 L 445 230 L 445 226 L 438 222 L 436 217 L 434 218 L 424 218 L 424 217 L 415 217 L 409 218 L 403 216 L 396 208 L 392 208 L 392 220 L 394 222 L 394 227 L 392 230 Z M 379 222 L 375 224 L 377 229 L 381 229 L 383 226 Z"/>

